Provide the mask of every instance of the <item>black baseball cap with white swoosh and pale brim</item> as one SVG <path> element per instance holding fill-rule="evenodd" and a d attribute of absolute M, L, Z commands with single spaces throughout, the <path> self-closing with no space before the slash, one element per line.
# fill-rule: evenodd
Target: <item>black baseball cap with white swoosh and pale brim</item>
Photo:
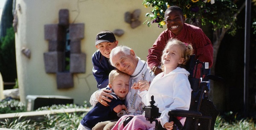
<path fill-rule="evenodd" d="M 101 42 L 114 42 L 116 37 L 113 33 L 102 33 L 96 36 L 95 45 L 98 45 Z"/>

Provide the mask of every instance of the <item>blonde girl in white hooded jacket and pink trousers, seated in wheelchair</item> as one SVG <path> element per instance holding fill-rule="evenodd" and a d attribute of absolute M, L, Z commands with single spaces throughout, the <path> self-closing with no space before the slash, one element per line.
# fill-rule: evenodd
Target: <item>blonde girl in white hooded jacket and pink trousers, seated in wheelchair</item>
<path fill-rule="evenodd" d="M 145 105 L 149 105 L 151 96 L 159 107 L 160 118 L 157 120 L 167 130 L 172 130 L 174 122 L 169 122 L 169 110 L 189 110 L 191 91 L 188 76 L 189 72 L 183 67 L 193 54 L 191 45 L 180 42 L 177 39 L 170 39 L 161 57 L 163 72 L 158 74 L 153 81 L 145 86 L 134 85 Z M 140 87 L 138 87 L 140 86 Z M 124 122 L 128 116 L 122 116 L 112 130 L 153 130 L 155 122 L 150 123 L 145 115 L 133 116 L 129 122 Z M 182 125 L 186 118 L 178 118 Z M 124 125 L 125 123 L 125 125 Z"/>

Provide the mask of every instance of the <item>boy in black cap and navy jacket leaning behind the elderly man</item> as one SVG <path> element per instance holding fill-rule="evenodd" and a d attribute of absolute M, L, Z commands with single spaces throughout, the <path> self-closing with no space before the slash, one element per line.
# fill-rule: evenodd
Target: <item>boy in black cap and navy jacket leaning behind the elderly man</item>
<path fill-rule="evenodd" d="M 108 75 L 115 69 L 109 62 L 109 55 L 117 45 L 118 41 L 111 31 L 103 30 L 96 35 L 95 46 L 98 50 L 93 54 L 92 61 L 93 76 L 99 89 L 107 87 Z"/>

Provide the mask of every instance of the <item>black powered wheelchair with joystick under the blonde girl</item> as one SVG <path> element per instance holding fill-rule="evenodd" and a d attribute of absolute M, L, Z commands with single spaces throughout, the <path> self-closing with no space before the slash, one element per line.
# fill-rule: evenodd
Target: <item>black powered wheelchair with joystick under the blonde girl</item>
<path fill-rule="evenodd" d="M 195 78 L 199 64 L 202 64 L 202 68 L 200 68 L 201 79 Z M 189 110 L 170 110 L 168 113 L 169 122 L 174 122 L 173 130 L 214 130 L 218 110 L 209 100 L 209 80 L 222 82 L 223 79 L 210 75 L 208 63 L 195 60 L 195 55 L 190 57 L 186 69 L 190 73 L 189 83 L 192 88 L 190 107 Z M 150 105 L 144 107 L 145 118 L 151 123 L 156 122 L 155 130 L 166 130 L 157 121 L 161 113 L 154 103 L 154 96 L 151 96 Z M 186 117 L 184 126 L 177 120 L 176 116 Z"/>

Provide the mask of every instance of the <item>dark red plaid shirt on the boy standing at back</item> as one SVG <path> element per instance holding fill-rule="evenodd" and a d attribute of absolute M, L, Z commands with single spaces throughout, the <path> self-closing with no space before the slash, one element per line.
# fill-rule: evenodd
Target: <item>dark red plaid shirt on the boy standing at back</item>
<path fill-rule="evenodd" d="M 158 36 L 153 47 L 148 49 L 147 62 L 150 68 L 161 65 L 163 49 L 170 38 L 176 38 L 181 42 L 191 44 L 194 49 L 195 59 L 198 59 L 201 62 L 209 62 L 209 68 L 212 67 L 212 42 L 204 34 L 201 28 L 184 23 L 180 34 L 175 36 L 170 30 L 166 29 Z M 200 64 L 198 65 L 198 68 L 201 68 Z M 196 77 L 200 78 L 200 71 L 197 71 Z"/>

